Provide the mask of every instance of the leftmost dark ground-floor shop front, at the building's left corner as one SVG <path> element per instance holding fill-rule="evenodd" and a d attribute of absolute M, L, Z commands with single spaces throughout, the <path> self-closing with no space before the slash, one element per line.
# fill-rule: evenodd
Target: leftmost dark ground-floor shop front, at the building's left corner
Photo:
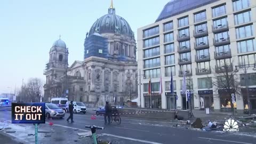
<path fill-rule="evenodd" d="M 145 108 L 150 108 L 150 95 L 148 93 L 144 93 L 144 101 L 145 101 Z M 151 94 L 151 108 L 162 108 L 162 99 L 161 94 L 159 93 L 152 93 Z"/>

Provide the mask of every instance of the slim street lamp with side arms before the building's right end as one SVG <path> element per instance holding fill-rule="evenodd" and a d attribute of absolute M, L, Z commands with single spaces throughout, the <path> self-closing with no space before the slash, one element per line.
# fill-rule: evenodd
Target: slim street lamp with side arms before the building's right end
<path fill-rule="evenodd" d="M 239 68 L 242 67 L 243 70 L 244 70 L 245 77 L 246 77 L 245 79 L 249 79 L 248 75 L 247 75 L 247 69 L 253 66 L 252 70 L 256 70 L 256 63 L 254 63 L 254 64 L 245 64 L 245 58 L 243 57 L 243 64 L 244 65 L 235 66 L 236 69 L 234 71 L 235 71 L 235 73 L 237 73 L 239 71 Z M 245 84 L 246 84 L 247 103 L 248 103 L 247 105 L 248 105 L 248 108 L 249 108 L 248 113 L 250 115 L 251 104 L 250 104 L 250 99 L 249 99 L 249 86 L 248 86 L 247 82 L 245 82 Z"/>

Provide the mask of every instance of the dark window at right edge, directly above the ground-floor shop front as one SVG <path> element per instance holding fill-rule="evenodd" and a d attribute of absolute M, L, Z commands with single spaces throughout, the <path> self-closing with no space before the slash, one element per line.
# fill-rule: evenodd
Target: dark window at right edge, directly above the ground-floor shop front
<path fill-rule="evenodd" d="M 240 82 L 242 86 L 256 85 L 256 73 L 240 74 Z"/>

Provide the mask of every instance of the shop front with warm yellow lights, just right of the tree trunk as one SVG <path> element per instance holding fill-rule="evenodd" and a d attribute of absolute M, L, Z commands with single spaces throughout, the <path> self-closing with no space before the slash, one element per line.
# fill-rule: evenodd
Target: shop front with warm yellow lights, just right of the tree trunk
<path fill-rule="evenodd" d="M 220 95 L 220 111 L 233 111 L 232 107 L 231 107 L 231 95 L 228 93 L 228 90 L 218 90 L 219 95 Z M 235 92 L 231 92 L 234 93 Z M 235 98 L 235 102 L 233 103 L 234 105 L 234 109 L 236 110 L 236 97 Z"/>

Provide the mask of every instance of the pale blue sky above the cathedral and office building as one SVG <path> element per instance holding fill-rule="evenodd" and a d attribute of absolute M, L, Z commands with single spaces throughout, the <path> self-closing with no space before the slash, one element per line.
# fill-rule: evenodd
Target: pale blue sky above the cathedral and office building
<path fill-rule="evenodd" d="M 114 0 L 116 14 L 137 29 L 154 23 L 169 0 Z M 84 39 L 92 24 L 108 13 L 110 0 L 1 0 L 0 94 L 20 89 L 22 78 L 45 82 L 49 50 L 59 38 L 69 48 L 69 66 L 83 60 Z"/>

